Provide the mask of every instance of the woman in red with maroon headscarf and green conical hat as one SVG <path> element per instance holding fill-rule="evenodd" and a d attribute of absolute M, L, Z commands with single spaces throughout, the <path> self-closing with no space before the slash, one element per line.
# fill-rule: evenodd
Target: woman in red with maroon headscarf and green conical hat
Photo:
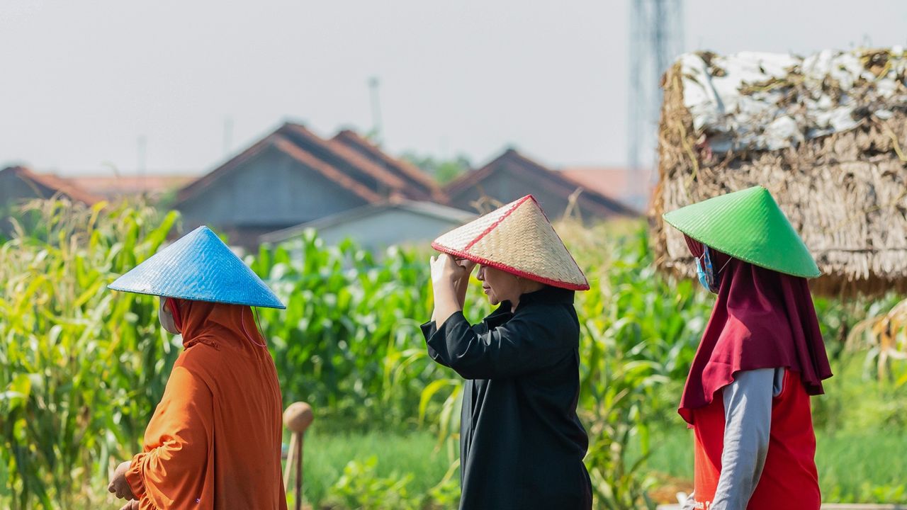
<path fill-rule="evenodd" d="M 820 274 L 813 257 L 761 186 L 664 219 L 717 294 L 678 409 L 694 429 L 686 508 L 817 510 L 809 396 L 832 373 L 806 282 Z"/>

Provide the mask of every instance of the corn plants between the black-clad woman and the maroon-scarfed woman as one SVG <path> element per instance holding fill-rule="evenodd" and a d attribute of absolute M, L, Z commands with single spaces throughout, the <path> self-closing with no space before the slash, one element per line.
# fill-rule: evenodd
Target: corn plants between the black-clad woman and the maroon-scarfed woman
<path fill-rule="evenodd" d="M 666 395 L 665 388 L 678 387 L 686 376 L 708 305 L 689 282 L 654 273 L 643 231 L 597 239 L 600 247 L 586 251 L 599 253 L 600 266 L 587 270 L 598 285 L 577 302 L 585 319 L 580 413 L 590 433 L 586 464 L 600 507 L 654 508 L 645 466 L 649 428 L 675 405 L 676 391 Z M 630 458 L 635 442 L 643 456 Z"/>

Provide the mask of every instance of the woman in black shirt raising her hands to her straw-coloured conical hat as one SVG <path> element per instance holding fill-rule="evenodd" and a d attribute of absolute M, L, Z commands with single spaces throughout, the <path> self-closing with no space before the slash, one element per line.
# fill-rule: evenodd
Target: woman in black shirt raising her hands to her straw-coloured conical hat
<path fill-rule="evenodd" d="M 580 324 L 573 291 L 589 289 L 532 196 L 432 244 L 429 355 L 466 379 L 460 424 L 462 509 L 591 507 L 582 463 L 588 437 L 576 415 Z M 470 274 L 493 305 L 463 317 Z"/>

